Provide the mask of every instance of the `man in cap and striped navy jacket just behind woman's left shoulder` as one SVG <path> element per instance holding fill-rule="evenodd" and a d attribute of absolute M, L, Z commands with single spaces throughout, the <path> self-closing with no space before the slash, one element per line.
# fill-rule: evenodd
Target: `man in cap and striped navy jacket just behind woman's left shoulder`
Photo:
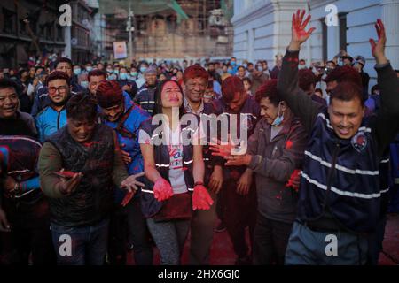
<path fill-rule="evenodd" d="M 157 70 L 150 67 L 145 70 L 145 84 L 138 89 L 135 103 L 153 116 L 155 107 L 154 95 L 157 85 Z"/>

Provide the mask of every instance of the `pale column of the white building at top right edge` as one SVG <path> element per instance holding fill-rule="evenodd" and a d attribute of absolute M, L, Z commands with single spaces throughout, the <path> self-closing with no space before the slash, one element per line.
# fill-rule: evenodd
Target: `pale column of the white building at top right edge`
<path fill-rule="evenodd" d="M 399 0 L 381 0 L 381 19 L 384 23 L 387 44 L 387 58 L 394 69 L 399 69 Z M 373 36 L 376 38 L 376 35 Z"/>

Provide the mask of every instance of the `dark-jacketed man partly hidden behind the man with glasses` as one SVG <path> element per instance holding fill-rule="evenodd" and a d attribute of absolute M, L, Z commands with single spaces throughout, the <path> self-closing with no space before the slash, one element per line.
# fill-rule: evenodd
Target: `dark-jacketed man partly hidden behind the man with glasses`
<path fill-rule="evenodd" d="M 59 61 L 57 61 L 57 63 L 55 64 L 55 71 L 66 73 L 71 82 L 71 94 L 74 95 L 78 92 L 84 92 L 85 89 L 78 83 L 77 76 L 74 75 L 72 66 L 72 61 L 69 58 L 61 57 Z M 37 113 L 42 111 L 42 109 L 50 103 L 51 100 L 49 98 L 47 88 L 40 88 L 39 90 L 37 90 L 31 111 L 32 116 L 35 117 Z"/>

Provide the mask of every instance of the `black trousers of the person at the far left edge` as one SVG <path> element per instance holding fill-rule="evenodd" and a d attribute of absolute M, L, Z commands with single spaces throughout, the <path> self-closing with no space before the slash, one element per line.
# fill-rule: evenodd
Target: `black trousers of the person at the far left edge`
<path fill-rule="evenodd" d="M 4 199 L 3 209 L 12 226 L 0 233 L 0 264 L 54 265 L 49 207 L 42 197 L 33 203 Z"/>

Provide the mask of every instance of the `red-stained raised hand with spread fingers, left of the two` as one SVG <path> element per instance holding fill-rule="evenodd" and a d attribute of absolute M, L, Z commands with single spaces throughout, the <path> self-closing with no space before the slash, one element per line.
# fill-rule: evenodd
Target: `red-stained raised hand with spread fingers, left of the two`
<path fill-rule="evenodd" d="M 316 27 L 309 28 L 308 31 L 305 30 L 305 27 L 308 25 L 311 16 L 308 15 L 305 20 L 303 17 L 305 16 L 305 10 L 297 10 L 296 13 L 293 13 L 293 22 L 292 22 L 292 35 L 291 35 L 291 43 L 289 45 L 289 50 L 299 50 L 301 44 L 306 42 L 316 29 Z"/>

